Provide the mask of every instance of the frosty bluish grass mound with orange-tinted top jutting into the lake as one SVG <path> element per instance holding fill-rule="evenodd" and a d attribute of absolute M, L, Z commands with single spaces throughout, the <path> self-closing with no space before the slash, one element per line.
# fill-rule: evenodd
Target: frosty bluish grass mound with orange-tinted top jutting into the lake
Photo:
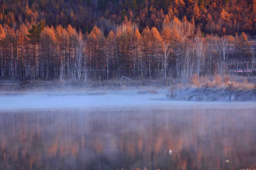
<path fill-rule="evenodd" d="M 190 82 L 170 84 L 167 96 L 188 101 L 256 101 L 256 84 L 246 78 L 193 75 Z"/>

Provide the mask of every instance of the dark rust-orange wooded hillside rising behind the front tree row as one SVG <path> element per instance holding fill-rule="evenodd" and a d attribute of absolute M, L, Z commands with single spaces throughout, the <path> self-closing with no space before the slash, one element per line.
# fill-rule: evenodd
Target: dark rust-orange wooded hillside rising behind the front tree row
<path fill-rule="evenodd" d="M 46 25 L 67 28 L 70 24 L 82 33 L 97 25 L 104 35 L 128 20 L 138 25 L 162 29 L 166 15 L 201 27 L 218 35 L 256 31 L 256 0 L 0 0 L 0 23 L 16 31 L 43 20 Z"/>

